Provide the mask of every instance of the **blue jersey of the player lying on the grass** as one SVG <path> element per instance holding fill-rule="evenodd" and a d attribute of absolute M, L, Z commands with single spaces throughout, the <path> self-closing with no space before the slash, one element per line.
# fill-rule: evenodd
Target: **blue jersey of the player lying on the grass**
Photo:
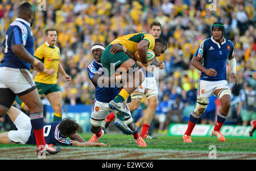
<path fill-rule="evenodd" d="M 44 139 L 46 144 L 53 145 L 71 145 L 73 144 L 72 140 L 67 140 L 65 137 L 61 137 L 59 131 L 59 124 L 61 121 L 55 121 L 52 123 L 44 124 Z M 26 144 L 36 144 L 35 135 L 33 130 L 31 130 L 30 137 Z"/>

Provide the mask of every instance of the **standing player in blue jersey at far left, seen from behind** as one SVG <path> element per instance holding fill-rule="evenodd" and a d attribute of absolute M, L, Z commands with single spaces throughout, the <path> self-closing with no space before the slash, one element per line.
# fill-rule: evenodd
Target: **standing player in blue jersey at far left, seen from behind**
<path fill-rule="evenodd" d="M 18 95 L 30 109 L 37 152 L 55 154 L 61 148 L 51 147 L 44 140 L 43 105 L 30 73 L 31 65 L 39 72 L 46 72 L 43 63 L 33 57 L 35 40 L 30 27 L 34 23 L 34 15 L 33 6 L 28 2 L 22 3 L 18 7 L 18 18 L 7 29 L 0 64 L 0 117 L 6 114 Z"/>

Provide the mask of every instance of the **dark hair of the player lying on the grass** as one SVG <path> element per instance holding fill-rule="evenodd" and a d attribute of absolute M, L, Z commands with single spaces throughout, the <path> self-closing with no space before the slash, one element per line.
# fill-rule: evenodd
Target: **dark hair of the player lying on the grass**
<path fill-rule="evenodd" d="M 72 119 L 71 117 L 64 118 L 59 124 L 60 134 L 65 137 L 68 137 L 73 132 L 76 132 L 77 130 L 79 130 L 79 128 L 79 124 L 76 123 L 76 120 Z"/>

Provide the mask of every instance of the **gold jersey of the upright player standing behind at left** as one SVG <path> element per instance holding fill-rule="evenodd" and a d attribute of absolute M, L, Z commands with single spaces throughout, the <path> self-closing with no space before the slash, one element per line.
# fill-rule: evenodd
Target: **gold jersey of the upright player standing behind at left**
<path fill-rule="evenodd" d="M 49 46 L 49 44 L 46 42 L 38 49 L 36 49 L 34 57 L 39 59 L 40 61 L 43 62 L 44 68 L 46 69 L 55 69 L 55 73 L 53 76 L 43 73 L 43 72 L 38 72 L 36 74 L 34 81 L 35 82 L 41 82 L 43 84 L 56 84 L 57 83 L 57 72 L 59 68 L 59 61 L 60 61 L 60 49 L 56 47 Z"/>

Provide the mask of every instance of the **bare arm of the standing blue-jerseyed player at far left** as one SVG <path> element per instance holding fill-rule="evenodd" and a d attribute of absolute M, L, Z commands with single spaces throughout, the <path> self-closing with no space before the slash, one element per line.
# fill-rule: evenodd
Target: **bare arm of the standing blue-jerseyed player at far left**
<path fill-rule="evenodd" d="M 28 62 L 35 66 L 36 69 L 38 69 L 40 72 L 44 70 L 44 65 L 41 61 L 38 59 L 35 59 L 30 53 L 27 52 L 26 48 L 24 48 L 21 44 L 15 44 L 11 46 L 11 50 L 13 53 L 19 57 L 19 59 Z"/>

